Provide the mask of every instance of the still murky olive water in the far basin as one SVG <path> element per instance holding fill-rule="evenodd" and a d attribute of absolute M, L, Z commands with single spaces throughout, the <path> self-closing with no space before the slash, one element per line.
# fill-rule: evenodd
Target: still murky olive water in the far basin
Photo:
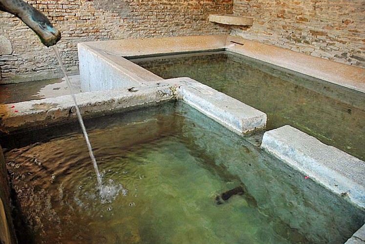
<path fill-rule="evenodd" d="M 230 52 L 130 59 L 168 79 L 190 77 L 365 160 L 365 94 Z"/>

